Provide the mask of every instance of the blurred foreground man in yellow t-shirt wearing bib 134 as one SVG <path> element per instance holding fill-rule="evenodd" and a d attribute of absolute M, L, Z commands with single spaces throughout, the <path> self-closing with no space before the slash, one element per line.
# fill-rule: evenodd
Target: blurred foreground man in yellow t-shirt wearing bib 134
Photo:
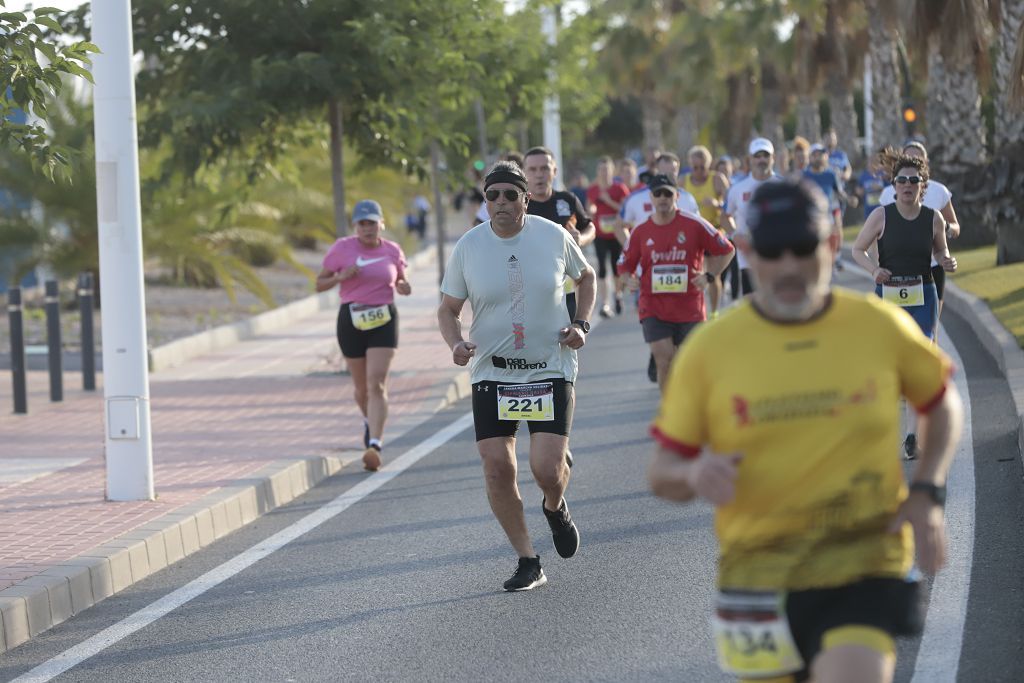
<path fill-rule="evenodd" d="M 737 238 L 753 298 L 690 336 L 666 382 L 648 475 L 716 506 L 719 663 L 740 679 L 891 681 L 921 629 L 914 565 L 945 560 L 962 407 L 951 362 L 884 301 L 829 286 L 820 190 L 765 183 Z M 903 479 L 899 398 L 924 452 Z"/>

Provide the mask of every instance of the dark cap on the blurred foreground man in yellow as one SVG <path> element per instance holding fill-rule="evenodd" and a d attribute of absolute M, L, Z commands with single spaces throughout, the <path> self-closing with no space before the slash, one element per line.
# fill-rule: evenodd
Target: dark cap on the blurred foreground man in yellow
<path fill-rule="evenodd" d="M 754 248 L 785 248 L 828 237 L 828 200 L 813 183 L 770 180 L 754 190 L 746 227 Z"/>

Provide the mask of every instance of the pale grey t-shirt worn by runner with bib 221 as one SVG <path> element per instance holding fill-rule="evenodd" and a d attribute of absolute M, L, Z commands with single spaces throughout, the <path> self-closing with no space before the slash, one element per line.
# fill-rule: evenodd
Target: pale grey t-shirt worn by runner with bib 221
<path fill-rule="evenodd" d="M 586 268 L 568 231 L 540 216 L 527 215 L 512 238 L 495 234 L 489 220 L 462 236 L 441 292 L 468 300 L 472 308 L 471 381 L 574 382 L 577 352 L 558 343 L 559 331 L 571 323 L 562 285 Z"/>

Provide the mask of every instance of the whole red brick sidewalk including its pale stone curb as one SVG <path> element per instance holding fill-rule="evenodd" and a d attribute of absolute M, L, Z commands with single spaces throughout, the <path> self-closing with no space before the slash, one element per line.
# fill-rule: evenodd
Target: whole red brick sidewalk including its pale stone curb
<path fill-rule="evenodd" d="M 436 261 L 398 297 L 400 348 L 385 430 L 394 439 L 457 397 L 468 375 L 437 333 Z M 336 310 L 151 375 L 153 502 L 104 500 L 103 395 L 68 373 L 29 414 L 0 380 L 0 652 L 212 543 L 355 461 L 362 422 L 334 338 Z"/>

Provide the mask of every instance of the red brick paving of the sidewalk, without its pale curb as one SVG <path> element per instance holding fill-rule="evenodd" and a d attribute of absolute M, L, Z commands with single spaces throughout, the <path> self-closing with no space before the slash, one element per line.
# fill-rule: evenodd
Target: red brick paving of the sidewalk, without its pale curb
<path fill-rule="evenodd" d="M 413 296 L 397 301 L 400 348 L 389 383 L 385 459 L 388 438 L 442 407 L 462 374 L 437 333 L 433 259 L 410 281 Z M 9 376 L 0 379 L 0 472 L 7 472 L 0 475 L 0 600 L 3 589 L 16 591 L 25 580 L 272 463 L 357 459 L 362 423 L 340 374 L 335 317 L 322 311 L 151 375 L 156 501 L 104 500 L 101 378 L 96 392 L 84 392 L 81 376 L 68 373 L 63 402 L 50 403 L 46 375 L 33 373 L 26 416 L 9 412 Z"/>

